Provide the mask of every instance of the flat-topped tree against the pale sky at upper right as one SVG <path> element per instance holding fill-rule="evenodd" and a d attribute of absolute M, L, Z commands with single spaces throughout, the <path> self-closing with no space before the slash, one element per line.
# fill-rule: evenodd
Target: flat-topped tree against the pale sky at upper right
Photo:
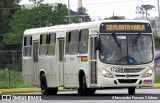
<path fill-rule="evenodd" d="M 145 14 L 146 18 L 147 18 L 147 16 L 150 16 L 150 14 L 148 13 L 148 11 L 152 10 L 154 8 L 155 8 L 155 6 L 149 5 L 149 4 L 137 6 L 136 7 L 136 9 L 137 9 L 136 13 L 137 14 Z"/>

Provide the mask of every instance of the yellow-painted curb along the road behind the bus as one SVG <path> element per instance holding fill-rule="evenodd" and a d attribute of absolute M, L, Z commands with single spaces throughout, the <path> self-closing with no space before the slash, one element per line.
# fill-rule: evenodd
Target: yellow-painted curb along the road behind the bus
<path fill-rule="evenodd" d="M 152 87 L 141 87 L 141 88 L 152 88 Z M 140 88 L 140 89 L 141 89 Z M 154 84 L 153 88 L 160 88 L 160 83 Z M 64 89 L 63 87 L 59 87 L 58 91 L 73 91 L 75 89 Z M 40 92 L 41 89 L 37 87 L 30 87 L 30 88 L 11 88 L 11 89 L 0 89 L 0 94 L 2 93 L 28 93 L 28 92 Z"/>

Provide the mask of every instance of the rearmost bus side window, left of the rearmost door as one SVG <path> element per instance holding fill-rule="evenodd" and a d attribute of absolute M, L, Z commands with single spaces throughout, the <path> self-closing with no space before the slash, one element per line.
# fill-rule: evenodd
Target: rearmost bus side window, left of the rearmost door
<path fill-rule="evenodd" d="M 24 56 L 31 56 L 32 52 L 32 36 L 24 37 Z"/>

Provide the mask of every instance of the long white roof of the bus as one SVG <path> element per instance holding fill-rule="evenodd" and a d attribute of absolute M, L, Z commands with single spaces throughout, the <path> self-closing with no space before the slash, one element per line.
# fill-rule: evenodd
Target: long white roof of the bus
<path fill-rule="evenodd" d="M 137 23 L 149 23 L 147 20 L 99 20 L 92 22 L 84 22 L 84 23 L 75 23 L 75 24 L 66 24 L 66 25 L 55 25 L 50 27 L 42 27 L 42 28 L 33 28 L 27 29 L 24 31 L 24 35 L 31 34 L 41 34 L 46 32 L 56 32 L 56 31 L 69 31 L 75 29 L 84 29 L 84 28 L 96 28 L 99 29 L 101 23 L 111 23 L 111 22 L 137 22 Z"/>

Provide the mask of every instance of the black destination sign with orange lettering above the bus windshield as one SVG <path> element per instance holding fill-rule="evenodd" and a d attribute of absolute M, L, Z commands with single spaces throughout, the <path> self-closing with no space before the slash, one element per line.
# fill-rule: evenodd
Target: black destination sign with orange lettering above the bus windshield
<path fill-rule="evenodd" d="M 102 23 L 100 26 L 101 33 L 151 33 L 151 27 L 148 23 L 135 23 L 135 22 L 126 22 L 126 23 Z"/>

